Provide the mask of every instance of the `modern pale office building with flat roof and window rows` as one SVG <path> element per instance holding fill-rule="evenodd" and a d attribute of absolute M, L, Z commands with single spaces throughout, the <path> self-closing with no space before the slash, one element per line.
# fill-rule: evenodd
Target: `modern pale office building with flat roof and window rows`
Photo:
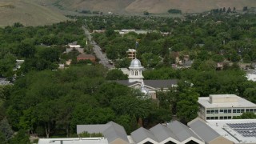
<path fill-rule="evenodd" d="M 198 117 L 204 120 L 233 119 L 245 112 L 256 114 L 256 105 L 235 94 L 210 94 L 198 98 Z"/>

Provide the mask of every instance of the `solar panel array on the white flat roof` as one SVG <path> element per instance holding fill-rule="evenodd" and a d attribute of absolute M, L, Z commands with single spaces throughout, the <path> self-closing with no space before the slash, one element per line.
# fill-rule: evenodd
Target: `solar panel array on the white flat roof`
<path fill-rule="evenodd" d="M 244 137 L 255 137 L 256 138 L 256 122 L 250 123 L 227 123 L 233 130 L 237 131 Z"/>

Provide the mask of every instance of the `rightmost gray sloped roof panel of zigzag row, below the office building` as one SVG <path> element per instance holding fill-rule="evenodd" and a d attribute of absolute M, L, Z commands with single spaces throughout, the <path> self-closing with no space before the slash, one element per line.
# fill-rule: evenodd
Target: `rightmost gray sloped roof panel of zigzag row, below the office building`
<path fill-rule="evenodd" d="M 210 128 L 210 126 L 208 126 L 205 122 L 202 122 L 199 119 L 195 120 L 194 122 L 191 122 L 189 126 L 205 142 L 210 142 L 220 136 L 220 134 L 218 134 L 215 130 Z"/>

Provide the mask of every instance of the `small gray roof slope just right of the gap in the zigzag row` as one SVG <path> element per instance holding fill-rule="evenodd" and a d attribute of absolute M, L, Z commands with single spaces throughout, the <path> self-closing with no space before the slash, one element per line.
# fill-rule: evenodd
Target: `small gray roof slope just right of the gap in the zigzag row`
<path fill-rule="evenodd" d="M 150 132 L 150 130 L 146 130 L 143 127 L 140 127 L 137 130 L 134 130 L 131 134 L 131 137 L 134 139 L 134 142 L 142 142 L 146 138 L 150 138 L 155 142 L 158 142 L 158 139 L 154 137 L 154 134 Z"/>

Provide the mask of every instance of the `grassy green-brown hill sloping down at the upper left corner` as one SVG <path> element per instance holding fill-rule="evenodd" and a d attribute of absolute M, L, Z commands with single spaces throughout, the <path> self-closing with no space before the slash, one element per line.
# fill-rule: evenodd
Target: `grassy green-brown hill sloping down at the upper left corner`
<path fill-rule="evenodd" d="M 64 15 L 30 0 L 0 2 L 0 26 L 10 26 L 14 22 L 20 22 L 24 26 L 42 26 L 67 19 Z"/>

